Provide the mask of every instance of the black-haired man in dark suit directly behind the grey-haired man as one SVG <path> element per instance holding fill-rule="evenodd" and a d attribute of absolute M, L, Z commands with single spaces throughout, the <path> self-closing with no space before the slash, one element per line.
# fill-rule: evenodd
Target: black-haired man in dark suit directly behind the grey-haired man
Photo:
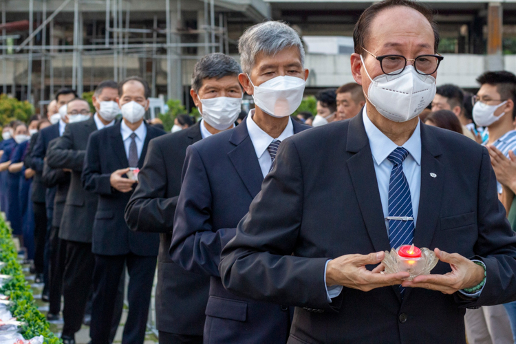
<path fill-rule="evenodd" d="M 224 54 L 201 58 L 195 64 L 190 91 L 200 111 L 203 111 L 200 99 L 209 92 L 214 92 L 215 97 L 238 93 L 235 89 L 239 89 L 240 72 L 238 63 Z M 186 148 L 205 138 L 206 131 L 210 135 L 219 132 L 201 120 L 193 127 L 152 140 L 138 175 L 138 186 L 125 210 L 131 230 L 160 233 L 155 302 L 156 327 L 163 344 L 202 343 L 210 278 L 175 264 L 169 257 L 169 248 Z"/>

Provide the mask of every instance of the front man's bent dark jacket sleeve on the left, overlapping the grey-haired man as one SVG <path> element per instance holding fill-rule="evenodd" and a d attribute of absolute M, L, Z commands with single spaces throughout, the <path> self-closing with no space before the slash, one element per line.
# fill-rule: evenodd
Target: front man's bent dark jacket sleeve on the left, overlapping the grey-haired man
<path fill-rule="evenodd" d="M 334 310 L 326 298 L 327 259 L 293 255 L 302 215 L 302 164 L 286 139 L 235 238 L 222 250 L 224 287 L 251 299 Z"/>

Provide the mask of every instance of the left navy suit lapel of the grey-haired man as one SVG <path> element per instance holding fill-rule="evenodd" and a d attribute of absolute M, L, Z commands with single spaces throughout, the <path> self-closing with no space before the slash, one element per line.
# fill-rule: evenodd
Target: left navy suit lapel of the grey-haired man
<path fill-rule="evenodd" d="M 236 147 L 228 153 L 228 157 L 235 166 L 242 182 L 246 185 L 251 197 L 255 198 L 261 190 L 264 175 L 261 174 L 255 147 L 252 145 L 247 131 L 246 118 L 233 129 L 229 142 L 235 144 Z"/>

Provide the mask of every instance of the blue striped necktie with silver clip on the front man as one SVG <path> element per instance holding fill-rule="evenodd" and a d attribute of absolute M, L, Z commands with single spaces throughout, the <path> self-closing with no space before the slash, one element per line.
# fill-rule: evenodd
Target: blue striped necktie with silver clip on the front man
<path fill-rule="evenodd" d="M 389 217 L 413 217 L 409 182 L 407 182 L 405 173 L 403 173 L 403 160 L 408 155 L 407 149 L 398 147 L 387 157 L 392 162 L 391 179 L 389 181 Z M 389 219 L 389 241 L 391 248 L 411 245 L 413 237 L 413 220 Z M 400 292 L 403 297 L 405 288 L 400 286 Z"/>

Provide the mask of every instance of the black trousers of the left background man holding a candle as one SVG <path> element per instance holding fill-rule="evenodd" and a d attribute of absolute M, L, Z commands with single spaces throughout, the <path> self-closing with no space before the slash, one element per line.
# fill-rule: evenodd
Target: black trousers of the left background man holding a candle
<path fill-rule="evenodd" d="M 145 338 L 156 257 L 127 255 L 95 255 L 93 275 L 92 344 L 108 344 L 109 325 L 113 319 L 120 274 L 127 264 L 129 273 L 129 314 L 124 326 L 122 344 L 142 344 Z"/>

